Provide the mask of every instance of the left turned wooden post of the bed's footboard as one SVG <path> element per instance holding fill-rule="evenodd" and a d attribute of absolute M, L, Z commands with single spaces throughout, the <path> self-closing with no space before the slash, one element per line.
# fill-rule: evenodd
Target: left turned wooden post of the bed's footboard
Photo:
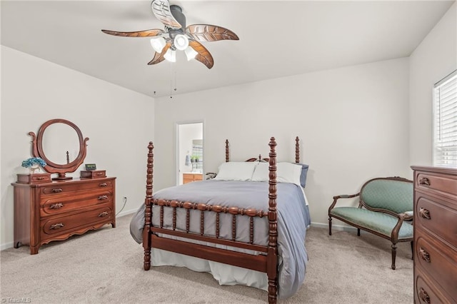
<path fill-rule="evenodd" d="M 152 223 L 152 176 L 154 173 L 154 145 L 152 141 L 149 141 L 148 145 L 148 164 L 146 170 L 146 198 L 144 203 L 146 205 L 146 211 L 144 214 L 144 228 L 143 228 L 143 248 L 144 248 L 144 270 L 151 268 L 151 237 L 149 232 L 151 230 Z"/>

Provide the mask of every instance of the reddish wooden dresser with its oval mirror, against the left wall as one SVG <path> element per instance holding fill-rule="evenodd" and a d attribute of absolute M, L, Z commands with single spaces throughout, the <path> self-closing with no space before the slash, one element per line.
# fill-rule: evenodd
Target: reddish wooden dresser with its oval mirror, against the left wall
<path fill-rule="evenodd" d="M 66 240 L 106 224 L 115 228 L 116 177 L 96 170 L 89 171 L 90 177 L 85 176 L 86 171 L 81 171 L 81 178 L 66 176 L 76 171 L 86 157 L 89 138 L 83 138 L 78 126 L 64 119 L 51 119 L 36 135 L 29 135 L 31 154 L 46 162 L 46 173 L 17 174 L 17 181 L 11 183 L 14 248 L 29 245 L 33 255 L 51 241 Z M 53 173 L 57 176 L 51 178 Z"/>

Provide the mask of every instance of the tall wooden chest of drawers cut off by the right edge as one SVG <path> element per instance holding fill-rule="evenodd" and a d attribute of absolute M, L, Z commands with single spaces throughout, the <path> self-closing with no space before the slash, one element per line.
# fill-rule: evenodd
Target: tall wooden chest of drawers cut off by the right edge
<path fill-rule="evenodd" d="M 457 303 L 457 168 L 414 171 L 414 303 Z"/>

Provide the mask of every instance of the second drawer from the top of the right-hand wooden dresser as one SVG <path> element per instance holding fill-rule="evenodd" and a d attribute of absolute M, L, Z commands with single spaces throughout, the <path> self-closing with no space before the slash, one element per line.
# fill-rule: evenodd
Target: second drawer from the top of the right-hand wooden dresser
<path fill-rule="evenodd" d="M 446 202 L 416 192 L 414 225 L 437 235 L 457 249 L 457 210 Z"/>

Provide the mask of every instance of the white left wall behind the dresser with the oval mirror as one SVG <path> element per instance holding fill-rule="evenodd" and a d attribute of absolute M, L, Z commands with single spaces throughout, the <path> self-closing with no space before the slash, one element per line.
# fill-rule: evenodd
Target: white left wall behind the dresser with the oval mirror
<path fill-rule="evenodd" d="M 146 153 L 154 140 L 154 98 L 1 46 L 1 248 L 13 243 L 13 187 L 31 156 L 29 131 L 64 118 L 89 137 L 85 163 L 116 176 L 116 212 L 136 210 L 146 193 Z M 70 176 L 79 176 L 84 165 Z"/>

